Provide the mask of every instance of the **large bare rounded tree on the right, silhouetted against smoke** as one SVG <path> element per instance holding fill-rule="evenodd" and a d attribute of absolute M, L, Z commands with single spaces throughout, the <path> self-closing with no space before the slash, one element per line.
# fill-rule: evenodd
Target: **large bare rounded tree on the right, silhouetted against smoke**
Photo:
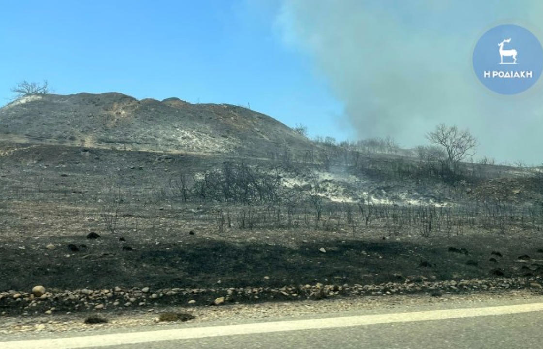
<path fill-rule="evenodd" d="M 433 132 L 428 132 L 426 138 L 445 149 L 444 167 L 453 173 L 458 169 L 458 163 L 467 156 L 473 156 L 477 147 L 477 139 L 468 130 L 458 130 L 456 126 L 440 124 Z"/>

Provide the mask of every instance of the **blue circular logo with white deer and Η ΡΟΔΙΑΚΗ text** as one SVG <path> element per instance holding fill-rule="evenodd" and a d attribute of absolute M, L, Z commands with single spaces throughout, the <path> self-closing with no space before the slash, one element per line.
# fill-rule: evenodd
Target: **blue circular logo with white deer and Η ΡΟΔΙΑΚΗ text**
<path fill-rule="evenodd" d="M 531 31 L 503 24 L 481 36 L 473 50 L 477 78 L 490 90 L 515 94 L 528 90 L 543 70 L 543 49 Z"/>

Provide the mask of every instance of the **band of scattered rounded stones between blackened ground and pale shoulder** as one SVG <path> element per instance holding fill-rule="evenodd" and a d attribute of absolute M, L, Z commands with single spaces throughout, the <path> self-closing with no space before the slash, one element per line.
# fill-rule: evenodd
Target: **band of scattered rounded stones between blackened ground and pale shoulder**
<path fill-rule="evenodd" d="M 435 281 L 408 276 L 402 282 L 381 284 L 305 284 L 281 288 L 165 288 L 153 290 L 115 287 L 112 289 L 55 290 L 35 287 L 32 292 L 10 290 L 0 293 L 0 315 L 34 316 L 55 313 L 115 312 L 126 308 L 172 306 L 224 306 L 232 303 L 320 300 L 345 296 L 402 294 L 460 294 L 472 291 L 541 289 L 543 280 L 531 278 L 488 278 Z M 43 293 L 41 292 L 43 291 Z M 37 295 L 40 295 L 39 297 Z"/>

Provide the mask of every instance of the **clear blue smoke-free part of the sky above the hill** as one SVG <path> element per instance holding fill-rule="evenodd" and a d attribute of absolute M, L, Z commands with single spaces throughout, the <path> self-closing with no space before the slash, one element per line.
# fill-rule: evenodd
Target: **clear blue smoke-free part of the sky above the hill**
<path fill-rule="evenodd" d="M 19 81 L 56 93 L 247 106 L 342 139 L 342 104 L 311 57 L 285 45 L 273 2 L 3 1 L 0 103 Z"/>

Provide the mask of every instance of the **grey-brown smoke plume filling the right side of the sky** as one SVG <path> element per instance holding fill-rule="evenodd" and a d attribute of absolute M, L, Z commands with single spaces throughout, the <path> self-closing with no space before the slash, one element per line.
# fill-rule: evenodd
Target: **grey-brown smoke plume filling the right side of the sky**
<path fill-rule="evenodd" d="M 505 96 L 477 80 L 472 52 L 491 27 L 514 23 L 541 40 L 539 1 L 285 0 L 283 40 L 310 54 L 344 103 L 358 137 L 390 135 L 403 147 L 446 123 L 468 128 L 479 155 L 543 161 L 541 81 Z"/>

